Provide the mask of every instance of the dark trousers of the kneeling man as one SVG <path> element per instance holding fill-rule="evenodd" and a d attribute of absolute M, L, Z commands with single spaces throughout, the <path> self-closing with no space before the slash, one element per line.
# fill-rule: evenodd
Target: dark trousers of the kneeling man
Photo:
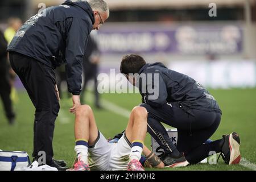
<path fill-rule="evenodd" d="M 162 107 L 141 104 L 148 111 L 148 133 L 160 144 L 165 152 L 179 154 L 184 152 L 189 163 L 199 163 L 209 156 L 210 151 L 221 152 L 222 139 L 203 144 L 217 130 L 221 114 L 210 111 L 191 109 L 189 113 L 177 102 Z M 172 143 L 162 123 L 177 128 L 177 146 Z M 154 130 L 154 131 L 153 131 Z M 159 139 L 159 133 L 164 139 Z M 164 140 L 164 142 L 163 142 Z M 167 143 L 168 146 L 164 143 Z M 178 150 L 178 151 L 177 151 Z"/>

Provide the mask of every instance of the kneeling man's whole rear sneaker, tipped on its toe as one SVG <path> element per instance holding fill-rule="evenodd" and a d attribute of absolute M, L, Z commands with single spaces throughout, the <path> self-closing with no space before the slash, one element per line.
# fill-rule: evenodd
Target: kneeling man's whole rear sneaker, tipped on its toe
<path fill-rule="evenodd" d="M 239 164 L 241 160 L 240 154 L 240 138 L 236 132 L 229 135 L 223 135 L 224 143 L 222 146 L 221 156 L 228 165 Z"/>

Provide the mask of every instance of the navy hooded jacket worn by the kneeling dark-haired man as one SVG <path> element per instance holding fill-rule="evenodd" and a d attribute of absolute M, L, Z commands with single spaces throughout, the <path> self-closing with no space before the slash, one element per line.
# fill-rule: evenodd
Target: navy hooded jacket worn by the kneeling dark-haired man
<path fill-rule="evenodd" d="M 178 102 L 179 106 L 190 114 L 191 109 L 199 109 L 205 111 L 216 111 L 221 114 L 221 110 L 214 97 L 202 85 L 193 80 L 193 78 L 179 72 L 166 68 L 162 63 L 146 64 L 140 71 L 139 76 L 142 78 L 143 73 L 158 73 L 158 79 L 150 79 L 142 83 L 142 79 L 137 82 L 143 100 L 146 104 L 153 107 L 161 107 L 166 103 Z M 154 78 L 154 75 L 152 75 Z M 158 83 L 156 83 L 156 81 Z M 145 86 L 146 92 L 142 92 Z M 149 86 L 149 87 L 148 87 Z M 156 99 L 149 97 L 155 93 L 149 93 L 148 88 L 159 90 Z"/>

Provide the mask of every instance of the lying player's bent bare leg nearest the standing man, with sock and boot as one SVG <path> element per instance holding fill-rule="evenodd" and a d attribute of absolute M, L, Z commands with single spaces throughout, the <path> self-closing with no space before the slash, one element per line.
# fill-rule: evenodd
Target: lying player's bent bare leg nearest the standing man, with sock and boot
<path fill-rule="evenodd" d="M 75 151 L 79 160 L 75 165 L 76 170 L 89 169 L 88 146 L 93 145 L 98 137 L 98 129 L 93 111 L 88 105 L 81 105 L 75 114 Z"/>

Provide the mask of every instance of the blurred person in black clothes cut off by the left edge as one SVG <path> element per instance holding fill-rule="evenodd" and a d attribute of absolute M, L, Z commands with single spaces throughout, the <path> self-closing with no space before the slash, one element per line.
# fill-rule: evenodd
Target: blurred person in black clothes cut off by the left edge
<path fill-rule="evenodd" d="M 10 125 L 13 125 L 15 114 L 13 111 L 13 103 L 11 102 L 11 84 L 10 84 L 10 65 L 7 61 L 7 40 L 0 30 L 0 97 L 5 108 L 5 115 Z"/>

